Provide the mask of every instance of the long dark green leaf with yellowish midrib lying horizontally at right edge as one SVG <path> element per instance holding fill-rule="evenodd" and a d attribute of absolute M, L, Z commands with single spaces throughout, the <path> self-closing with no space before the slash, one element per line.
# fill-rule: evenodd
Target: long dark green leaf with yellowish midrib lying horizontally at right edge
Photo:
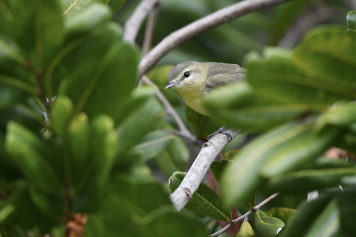
<path fill-rule="evenodd" d="M 345 176 L 356 175 L 356 168 L 307 169 L 280 174 L 268 179 L 262 189 L 272 192 L 300 193 L 337 187 Z"/>

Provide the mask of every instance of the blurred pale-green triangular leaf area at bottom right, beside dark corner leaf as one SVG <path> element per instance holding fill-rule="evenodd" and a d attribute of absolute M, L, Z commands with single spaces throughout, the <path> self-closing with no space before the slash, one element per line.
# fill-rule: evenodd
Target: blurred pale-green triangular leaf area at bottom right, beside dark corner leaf
<path fill-rule="evenodd" d="M 305 237 L 333 236 L 340 230 L 339 210 L 336 200 L 332 200 L 309 228 Z"/>

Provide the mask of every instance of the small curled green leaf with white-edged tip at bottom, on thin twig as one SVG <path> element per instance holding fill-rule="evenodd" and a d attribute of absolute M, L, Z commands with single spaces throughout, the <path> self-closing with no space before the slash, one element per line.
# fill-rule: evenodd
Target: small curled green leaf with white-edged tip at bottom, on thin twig
<path fill-rule="evenodd" d="M 255 226 L 263 236 L 274 237 L 285 226 L 284 222 L 277 217 L 267 216 L 263 211 L 257 211 L 255 215 Z"/>

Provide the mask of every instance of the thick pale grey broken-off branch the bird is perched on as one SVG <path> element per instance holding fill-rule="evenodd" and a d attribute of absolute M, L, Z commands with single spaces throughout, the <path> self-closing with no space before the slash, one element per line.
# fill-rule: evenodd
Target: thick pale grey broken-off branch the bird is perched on
<path fill-rule="evenodd" d="M 235 138 L 240 131 L 233 131 L 226 129 L 227 133 Z M 200 182 L 203 180 L 205 173 L 208 171 L 211 163 L 221 150 L 229 143 L 230 138 L 225 134 L 219 133 L 213 136 L 209 141 L 205 142 L 203 147 L 190 167 L 188 173 L 185 175 L 179 187 L 169 196 L 174 208 L 180 211 L 185 204 L 192 198 L 193 193 L 197 191 Z"/>

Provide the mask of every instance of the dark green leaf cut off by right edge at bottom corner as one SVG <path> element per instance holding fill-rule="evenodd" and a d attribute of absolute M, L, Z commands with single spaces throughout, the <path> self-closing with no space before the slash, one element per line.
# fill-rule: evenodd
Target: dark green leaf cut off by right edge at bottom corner
<path fill-rule="evenodd" d="M 354 186 L 355 187 L 355 186 Z M 340 225 L 350 236 L 356 235 L 355 222 L 353 216 L 356 211 L 355 203 L 356 190 L 345 189 L 345 192 L 337 196 L 337 205 L 340 212 Z"/>

